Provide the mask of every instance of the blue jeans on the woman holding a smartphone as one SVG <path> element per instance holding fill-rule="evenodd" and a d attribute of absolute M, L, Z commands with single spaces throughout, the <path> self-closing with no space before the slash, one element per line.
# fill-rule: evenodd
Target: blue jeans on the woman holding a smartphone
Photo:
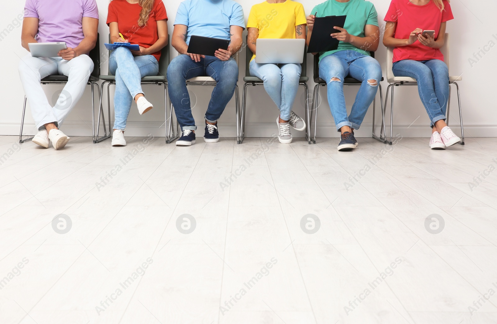
<path fill-rule="evenodd" d="M 449 69 L 440 60 L 402 60 L 394 63 L 396 77 L 416 79 L 419 97 L 430 117 L 433 127 L 438 120 L 445 120 L 449 100 Z"/>

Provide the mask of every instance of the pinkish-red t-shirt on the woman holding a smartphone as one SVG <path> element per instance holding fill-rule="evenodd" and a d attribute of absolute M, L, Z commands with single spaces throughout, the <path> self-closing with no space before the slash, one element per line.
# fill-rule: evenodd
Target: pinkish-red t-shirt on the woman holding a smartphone
<path fill-rule="evenodd" d="M 408 39 L 411 32 L 416 28 L 422 30 L 434 30 L 437 39 L 440 24 L 444 21 L 454 19 L 450 4 L 443 0 L 444 10 L 436 6 L 431 0 L 425 5 L 415 5 L 410 0 L 392 0 L 385 16 L 385 21 L 397 22 L 394 37 L 397 39 Z M 418 40 L 409 46 L 394 48 L 394 62 L 401 60 L 441 60 L 443 54 L 439 49 L 424 46 Z"/>

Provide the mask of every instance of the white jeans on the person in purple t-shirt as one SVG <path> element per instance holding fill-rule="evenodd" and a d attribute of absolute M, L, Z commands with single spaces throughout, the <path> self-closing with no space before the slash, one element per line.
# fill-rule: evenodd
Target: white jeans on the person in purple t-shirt
<path fill-rule="evenodd" d="M 36 58 L 31 54 L 21 59 L 19 76 L 37 129 L 48 123 L 57 123 L 60 127 L 83 95 L 92 71 L 93 62 L 87 55 L 80 55 L 70 61 L 63 58 Z M 40 84 L 41 79 L 50 75 L 69 77 L 55 105 L 49 103 Z"/>

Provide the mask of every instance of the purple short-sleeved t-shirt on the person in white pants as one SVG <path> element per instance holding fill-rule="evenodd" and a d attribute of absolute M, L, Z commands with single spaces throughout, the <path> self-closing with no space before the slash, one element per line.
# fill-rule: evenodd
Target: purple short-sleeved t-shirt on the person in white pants
<path fill-rule="evenodd" d="M 84 38 L 83 17 L 98 19 L 95 0 L 26 0 L 24 18 L 38 18 L 39 43 L 66 42 L 75 48 Z"/>

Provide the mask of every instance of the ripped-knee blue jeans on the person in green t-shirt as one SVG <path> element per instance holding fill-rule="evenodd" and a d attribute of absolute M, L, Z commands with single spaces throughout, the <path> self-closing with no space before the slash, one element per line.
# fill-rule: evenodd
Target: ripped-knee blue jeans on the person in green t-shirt
<path fill-rule="evenodd" d="M 355 96 L 350 115 L 347 117 L 343 80 L 349 75 L 361 81 L 362 84 Z M 378 61 L 354 50 L 335 52 L 325 56 L 319 62 L 319 77 L 328 85 L 328 103 L 336 130 L 339 131 L 343 126 L 359 129 L 381 80 L 381 66 Z M 333 78 L 340 81 L 331 80 Z"/>

